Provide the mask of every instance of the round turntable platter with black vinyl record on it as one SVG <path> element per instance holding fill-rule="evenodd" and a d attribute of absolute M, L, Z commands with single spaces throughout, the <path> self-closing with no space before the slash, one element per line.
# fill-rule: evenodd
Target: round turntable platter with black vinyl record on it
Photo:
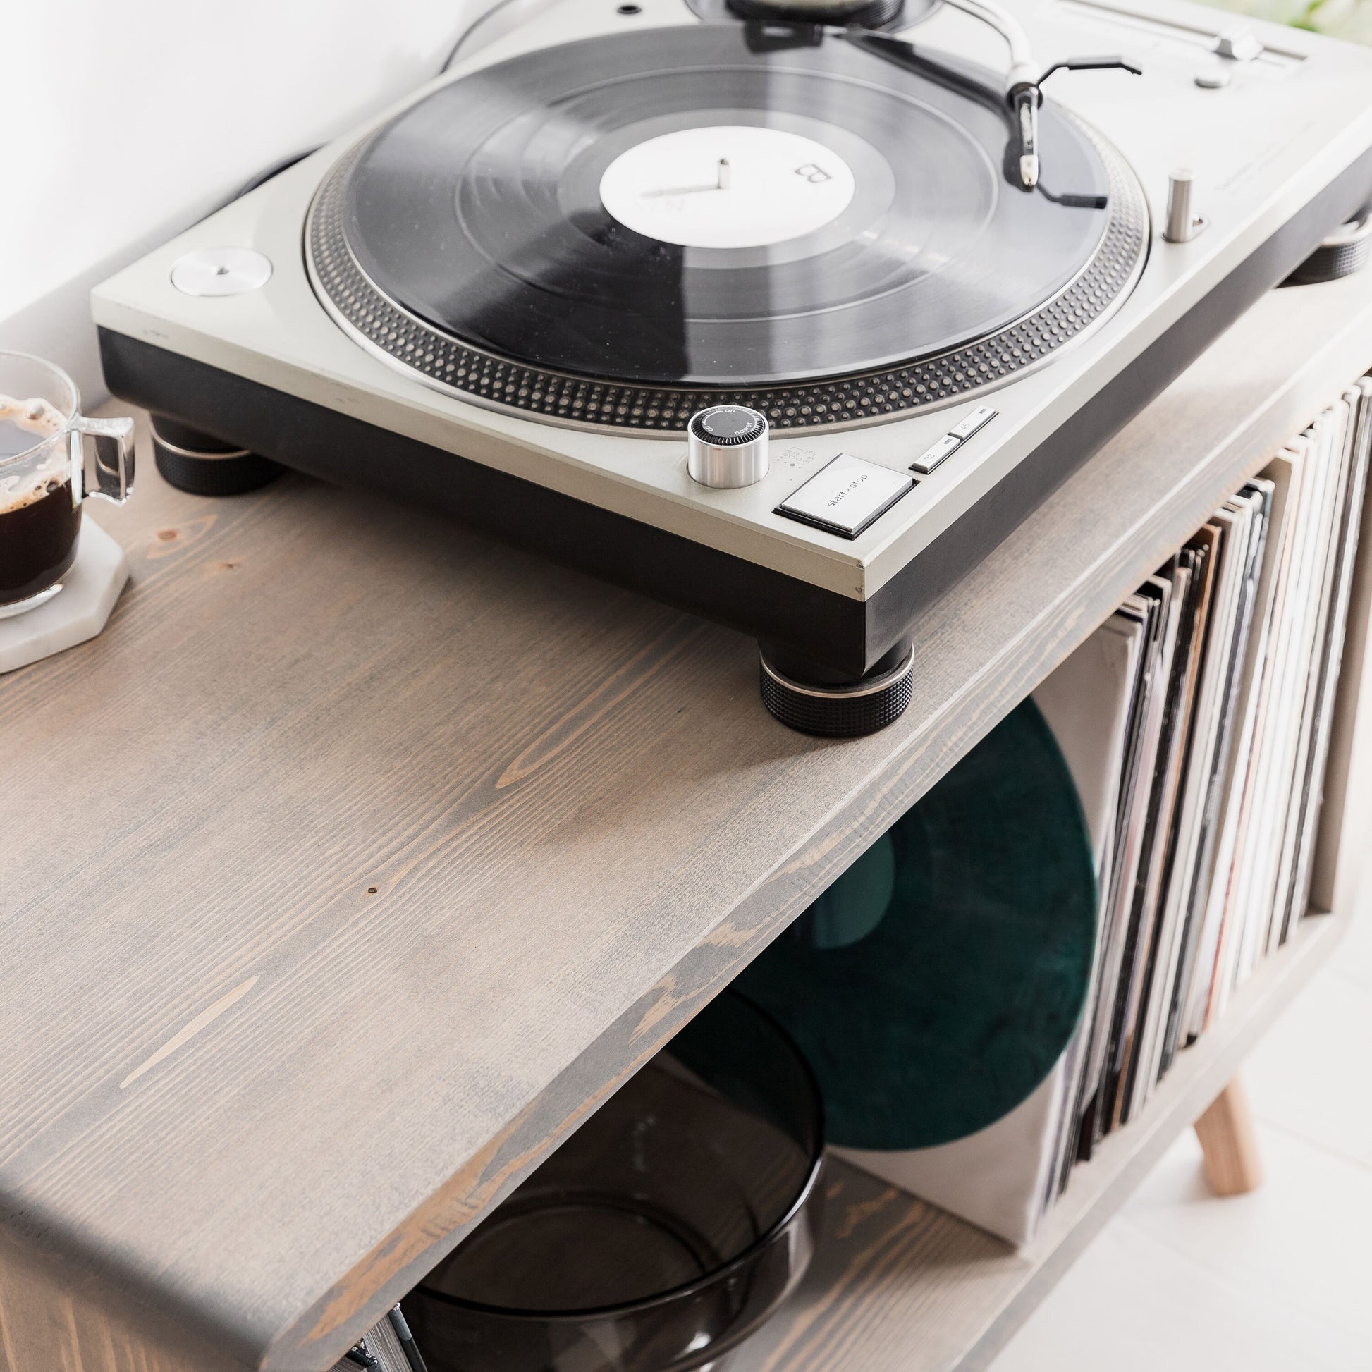
<path fill-rule="evenodd" d="M 321 188 L 322 298 L 460 392 L 676 429 L 722 398 L 799 427 L 966 394 L 1122 296 L 1146 210 L 1102 140 L 1047 104 L 1025 192 L 992 73 L 804 36 L 645 30 L 432 92 Z"/>

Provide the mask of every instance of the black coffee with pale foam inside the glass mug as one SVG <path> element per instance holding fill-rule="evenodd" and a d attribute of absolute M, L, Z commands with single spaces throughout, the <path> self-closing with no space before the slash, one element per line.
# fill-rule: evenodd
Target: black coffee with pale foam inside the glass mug
<path fill-rule="evenodd" d="M 33 460 L 4 462 L 60 429 L 62 416 L 45 401 L 0 395 L 0 606 L 62 580 L 75 558 L 81 506 L 71 505 L 62 446 L 52 445 Z"/>

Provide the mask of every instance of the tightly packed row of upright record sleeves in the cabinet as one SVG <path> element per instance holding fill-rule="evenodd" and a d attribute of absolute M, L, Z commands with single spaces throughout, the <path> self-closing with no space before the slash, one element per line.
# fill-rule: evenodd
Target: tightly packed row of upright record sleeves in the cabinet
<path fill-rule="evenodd" d="M 1050 1195 L 1306 911 L 1369 443 L 1364 379 L 1058 670 L 1114 701 L 1114 794 Z"/>

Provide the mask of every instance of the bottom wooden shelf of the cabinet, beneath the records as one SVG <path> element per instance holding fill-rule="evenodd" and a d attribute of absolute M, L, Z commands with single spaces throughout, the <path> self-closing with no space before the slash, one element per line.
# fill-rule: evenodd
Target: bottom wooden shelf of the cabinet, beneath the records
<path fill-rule="evenodd" d="M 974 1372 L 985 1368 L 1262 1032 L 1334 951 L 1346 915 L 1312 915 L 1177 1058 L 1142 1120 L 1107 1137 L 1015 1250 L 829 1159 L 825 1233 L 805 1281 L 729 1372 Z"/>

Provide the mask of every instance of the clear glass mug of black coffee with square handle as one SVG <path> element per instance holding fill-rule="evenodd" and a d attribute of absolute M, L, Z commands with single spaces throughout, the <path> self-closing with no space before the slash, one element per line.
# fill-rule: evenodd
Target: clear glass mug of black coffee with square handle
<path fill-rule="evenodd" d="M 81 504 L 133 490 L 133 420 L 91 420 L 75 383 L 0 353 L 0 619 L 52 600 L 77 556 Z"/>

